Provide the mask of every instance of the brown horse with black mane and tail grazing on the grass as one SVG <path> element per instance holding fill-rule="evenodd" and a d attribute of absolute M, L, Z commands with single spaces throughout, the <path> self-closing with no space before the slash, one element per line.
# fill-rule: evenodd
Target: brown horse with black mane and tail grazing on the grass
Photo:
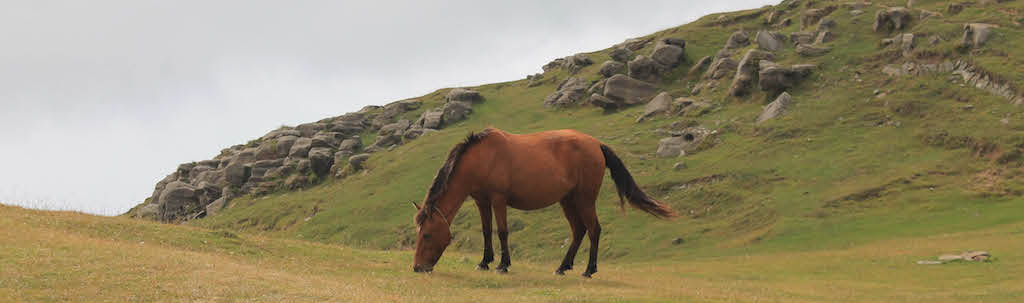
<path fill-rule="evenodd" d="M 497 270 L 505 273 L 512 263 L 507 208 L 536 210 L 558 202 L 572 229 L 572 244 L 555 273 L 564 274 L 572 269 L 580 243 L 589 231 L 590 260 L 583 275 L 590 277 L 597 272 L 601 224 L 597 222 L 595 201 L 605 167 L 611 170 L 621 205 L 629 201 L 633 207 L 658 218 L 676 216 L 671 208 L 644 193 L 615 153 L 594 137 L 574 130 L 518 135 L 488 128 L 470 133 L 449 153 L 423 207 L 416 206 L 419 230 L 413 270 L 433 270 L 452 242 L 451 219 L 466 198 L 472 197 L 483 226 L 483 260 L 478 269 L 488 269 L 495 259 L 490 246 L 492 214 L 498 222 L 502 245 L 502 260 Z"/>

